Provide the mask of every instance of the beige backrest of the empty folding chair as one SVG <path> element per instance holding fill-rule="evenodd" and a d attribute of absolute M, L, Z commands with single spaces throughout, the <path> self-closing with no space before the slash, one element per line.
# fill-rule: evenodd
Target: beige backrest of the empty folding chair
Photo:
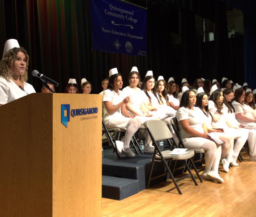
<path fill-rule="evenodd" d="M 171 131 L 164 121 L 148 120 L 144 125 L 146 128 L 149 128 L 156 141 L 172 138 Z"/>

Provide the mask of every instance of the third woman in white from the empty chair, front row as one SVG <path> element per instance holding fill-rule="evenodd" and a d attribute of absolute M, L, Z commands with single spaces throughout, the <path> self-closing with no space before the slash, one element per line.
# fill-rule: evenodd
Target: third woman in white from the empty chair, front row
<path fill-rule="evenodd" d="M 210 101 L 208 103 L 209 111 L 213 116 L 212 126 L 222 128 L 225 134 L 233 139 L 233 143 L 230 146 L 228 146 L 226 143 L 222 145 L 222 164 L 224 169 L 226 168 L 225 170 L 227 172 L 229 170 L 227 165 L 229 165 L 231 162 L 235 165 L 236 159 L 233 159 L 233 148 L 236 147 L 237 149 L 240 149 L 243 147 L 248 138 L 248 134 L 244 133 L 240 129 L 235 129 L 228 123 L 228 113 L 226 109 L 223 109 L 223 100 L 224 97 L 222 91 L 217 89 L 216 85 L 213 85 L 211 89 Z"/>

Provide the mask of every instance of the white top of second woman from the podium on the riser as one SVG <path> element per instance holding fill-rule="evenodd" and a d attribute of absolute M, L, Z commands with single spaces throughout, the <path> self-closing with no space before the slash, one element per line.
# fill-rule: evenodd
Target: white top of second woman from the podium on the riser
<path fill-rule="evenodd" d="M 141 111 L 141 103 L 142 97 L 143 97 L 143 91 L 140 88 L 133 89 L 129 86 L 125 87 L 123 89 L 123 94 L 125 97 L 130 97 L 129 104 L 132 106 L 132 108 L 139 114 L 142 114 Z"/>

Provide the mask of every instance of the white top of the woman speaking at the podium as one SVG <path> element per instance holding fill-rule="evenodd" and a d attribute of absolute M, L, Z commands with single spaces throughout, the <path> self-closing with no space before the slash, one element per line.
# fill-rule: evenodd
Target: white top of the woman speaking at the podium
<path fill-rule="evenodd" d="M 13 80 L 8 82 L 5 78 L 0 77 L 0 105 L 32 93 L 35 93 L 35 90 L 31 84 L 25 82 L 24 90 L 21 90 Z"/>

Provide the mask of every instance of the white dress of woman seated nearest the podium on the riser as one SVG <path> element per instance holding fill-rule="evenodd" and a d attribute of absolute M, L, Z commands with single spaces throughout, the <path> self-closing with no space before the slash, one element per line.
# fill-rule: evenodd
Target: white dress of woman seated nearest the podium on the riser
<path fill-rule="evenodd" d="M 105 90 L 103 92 L 102 102 L 112 102 L 112 106 L 115 106 L 119 102 L 122 102 L 124 98 L 125 97 L 121 90 L 119 90 L 119 94 L 117 94 L 114 90 Z M 120 127 L 125 129 L 130 118 L 124 117 L 124 115 L 122 115 L 121 107 L 114 113 L 108 113 L 103 103 L 103 120 L 107 127 Z"/>

